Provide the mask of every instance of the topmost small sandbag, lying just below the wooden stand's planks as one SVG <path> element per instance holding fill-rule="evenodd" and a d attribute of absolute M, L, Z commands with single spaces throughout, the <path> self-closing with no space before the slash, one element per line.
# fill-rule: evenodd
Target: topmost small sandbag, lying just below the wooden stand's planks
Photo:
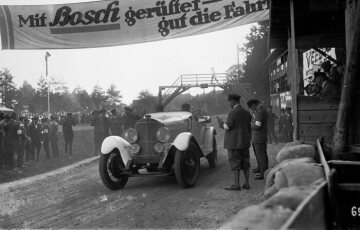
<path fill-rule="evenodd" d="M 311 145 L 300 144 L 294 146 L 287 146 L 282 148 L 276 155 L 276 161 L 282 162 L 286 159 L 300 158 L 300 157 L 315 157 L 315 148 Z"/>

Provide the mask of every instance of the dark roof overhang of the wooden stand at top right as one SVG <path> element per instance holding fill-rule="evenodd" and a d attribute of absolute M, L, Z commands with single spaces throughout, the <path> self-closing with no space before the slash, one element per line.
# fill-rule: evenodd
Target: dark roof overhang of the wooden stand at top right
<path fill-rule="evenodd" d="M 297 49 L 345 47 L 343 0 L 293 0 Z M 270 1 L 269 49 L 286 49 L 290 34 L 290 0 Z"/>

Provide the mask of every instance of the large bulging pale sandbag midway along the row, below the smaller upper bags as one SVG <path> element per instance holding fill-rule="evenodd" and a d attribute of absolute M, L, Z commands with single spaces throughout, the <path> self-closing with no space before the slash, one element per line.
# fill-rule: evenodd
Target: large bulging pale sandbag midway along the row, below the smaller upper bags
<path fill-rule="evenodd" d="M 275 172 L 273 184 L 269 182 L 270 184 L 264 192 L 264 197 L 266 199 L 271 197 L 281 188 L 305 186 L 319 179 L 324 180 L 325 175 L 323 168 L 317 164 L 286 164 Z"/>

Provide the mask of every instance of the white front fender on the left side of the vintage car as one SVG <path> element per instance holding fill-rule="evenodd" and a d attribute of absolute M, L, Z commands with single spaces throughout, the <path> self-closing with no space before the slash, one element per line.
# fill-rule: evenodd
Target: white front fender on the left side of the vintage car
<path fill-rule="evenodd" d="M 119 136 L 109 136 L 105 138 L 103 143 L 101 144 L 101 153 L 109 154 L 111 153 L 111 151 L 113 151 L 113 149 L 118 149 L 124 165 L 126 166 L 131 161 L 131 155 L 126 146 L 131 145 L 123 138 Z"/>

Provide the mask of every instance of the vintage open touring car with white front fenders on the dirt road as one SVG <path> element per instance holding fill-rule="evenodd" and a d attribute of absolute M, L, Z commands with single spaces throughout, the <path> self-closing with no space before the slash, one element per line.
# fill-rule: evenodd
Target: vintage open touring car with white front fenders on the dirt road
<path fill-rule="evenodd" d="M 190 112 L 146 115 L 122 137 L 109 136 L 101 146 L 99 172 L 112 190 L 123 188 L 129 177 L 175 174 L 184 188 L 193 187 L 200 173 L 200 158 L 216 167 L 216 130 L 210 117 Z"/>

